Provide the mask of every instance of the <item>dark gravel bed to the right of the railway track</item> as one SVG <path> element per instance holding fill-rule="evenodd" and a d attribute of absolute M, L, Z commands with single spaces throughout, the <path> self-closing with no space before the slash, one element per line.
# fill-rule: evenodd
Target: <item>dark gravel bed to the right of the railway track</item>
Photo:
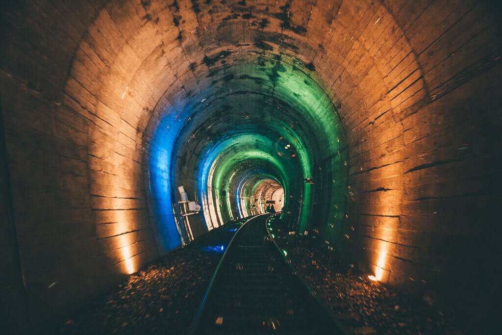
<path fill-rule="evenodd" d="M 340 324 L 352 334 L 465 334 L 424 297 L 398 293 L 369 280 L 352 264 L 319 247 L 311 236 L 281 234 L 275 239 L 298 274 Z M 306 235 L 306 234 L 305 234 Z M 426 301 L 424 301 L 426 300 Z"/>

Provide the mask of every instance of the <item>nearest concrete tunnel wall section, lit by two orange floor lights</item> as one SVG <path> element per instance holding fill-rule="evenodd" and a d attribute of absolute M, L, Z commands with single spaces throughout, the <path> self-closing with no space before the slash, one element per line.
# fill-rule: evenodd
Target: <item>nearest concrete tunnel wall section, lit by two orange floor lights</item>
<path fill-rule="evenodd" d="M 433 300 L 465 289 L 478 308 L 499 254 L 497 13 L 460 0 L 6 4 L 2 111 L 30 318 L 171 248 L 149 214 L 145 153 L 223 51 L 298 59 L 336 106 L 343 257 Z"/>

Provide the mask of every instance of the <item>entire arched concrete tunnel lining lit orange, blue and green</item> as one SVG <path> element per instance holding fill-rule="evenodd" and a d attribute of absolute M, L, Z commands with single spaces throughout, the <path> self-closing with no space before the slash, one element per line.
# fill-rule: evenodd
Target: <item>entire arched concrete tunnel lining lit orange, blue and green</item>
<path fill-rule="evenodd" d="M 53 329 L 272 204 L 291 241 L 309 239 L 364 285 L 491 333 L 497 2 L 1 7 L 8 333 Z"/>

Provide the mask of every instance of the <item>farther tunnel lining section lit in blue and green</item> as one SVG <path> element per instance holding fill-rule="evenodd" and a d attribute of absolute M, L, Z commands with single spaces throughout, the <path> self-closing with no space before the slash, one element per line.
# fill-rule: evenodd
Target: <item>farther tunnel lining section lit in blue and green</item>
<path fill-rule="evenodd" d="M 339 245 L 348 168 L 332 100 L 304 63 L 287 56 L 214 57 L 221 63 L 199 65 L 210 74 L 186 83 L 193 85 L 188 94 L 166 91 L 170 107 L 158 105 L 154 115 L 162 121 L 150 121 L 146 160 L 158 243 L 169 250 L 192 238 L 179 224 L 179 185 L 202 205 L 203 215 L 190 217 L 194 236 L 263 212 L 263 197 L 272 200 L 272 193 L 255 192 L 281 185 L 277 205 L 290 228 L 319 229 L 327 244 Z M 266 180 L 277 187 L 260 187 Z"/>

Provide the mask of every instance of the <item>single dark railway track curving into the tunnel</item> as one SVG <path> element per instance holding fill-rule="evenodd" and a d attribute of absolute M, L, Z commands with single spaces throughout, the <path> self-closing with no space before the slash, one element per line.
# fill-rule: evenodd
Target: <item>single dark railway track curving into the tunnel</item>
<path fill-rule="evenodd" d="M 343 334 L 270 237 L 268 214 L 228 244 L 189 334 Z"/>

